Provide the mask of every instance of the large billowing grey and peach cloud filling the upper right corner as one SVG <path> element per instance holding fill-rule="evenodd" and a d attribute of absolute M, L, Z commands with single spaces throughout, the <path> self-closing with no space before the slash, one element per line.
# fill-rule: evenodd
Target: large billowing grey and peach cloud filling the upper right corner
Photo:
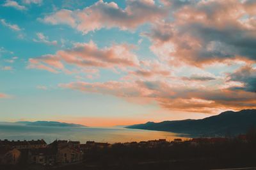
<path fill-rule="evenodd" d="M 164 1 L 177 5 L 177 1 Z M 186 3 L 185 3 L 186 2 Z M 229 59 L 256 61 L 256 3 L 253 1 L 179 1 L 170 20 L 156 22 L 142 35 L 150 49 L 173 61 L 202 66 Z"/>

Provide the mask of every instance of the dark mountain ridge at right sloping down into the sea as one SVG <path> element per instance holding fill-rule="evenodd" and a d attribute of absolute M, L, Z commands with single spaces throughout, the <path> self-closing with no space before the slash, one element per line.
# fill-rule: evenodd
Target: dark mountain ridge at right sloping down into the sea
<path fill-rule="evenodd" d="M 202 120 L 162 121 L 131 125 L 126 128 L 159 130 L 188 134 L 190 136 L 223 136 L 244 134 L 250 127 L 256 126 L 256 109 L 238 112 L 226 111 L 217 116 Z"/>

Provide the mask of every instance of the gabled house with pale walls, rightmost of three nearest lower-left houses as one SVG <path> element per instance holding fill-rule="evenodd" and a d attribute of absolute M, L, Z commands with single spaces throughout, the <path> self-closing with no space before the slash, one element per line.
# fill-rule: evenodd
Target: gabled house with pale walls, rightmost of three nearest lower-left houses
<path fill-rule="evenodd" d="M 70 148 L 68 146 L 63 146 L 58 148 L 58 153 L 56 155 L 56 162 L 58 164 L 79 162 L 83 160 L 83 152 L 76 150 L 75 148 Z"/>

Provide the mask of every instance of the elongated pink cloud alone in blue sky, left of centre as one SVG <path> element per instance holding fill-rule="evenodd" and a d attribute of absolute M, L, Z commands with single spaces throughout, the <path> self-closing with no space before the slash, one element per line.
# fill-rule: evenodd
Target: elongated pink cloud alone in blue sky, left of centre
<path fill-rule="evenodd" d="M 129 45 L 113 45 L 99 49 L 97 45 L 90 43 L 76 43 L 72 49 L 59 50 L 56 54 L 47 54 L 29 59 L 28 68 L 38 68 L 49 72 L 65 70 L 65 65 L 73 65 L 79 68 L 126 68 L 140 65 L 138 58 L 130 50 Z"/>

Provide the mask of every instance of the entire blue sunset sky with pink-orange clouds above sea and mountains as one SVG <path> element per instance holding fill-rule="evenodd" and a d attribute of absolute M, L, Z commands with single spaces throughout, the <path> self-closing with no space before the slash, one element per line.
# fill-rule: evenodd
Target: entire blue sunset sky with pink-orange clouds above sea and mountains
<path fill-rule="evenodd" d="M 92 127 L 256 109 L 256 1 L 1 0 L 0 108 Z"/>

